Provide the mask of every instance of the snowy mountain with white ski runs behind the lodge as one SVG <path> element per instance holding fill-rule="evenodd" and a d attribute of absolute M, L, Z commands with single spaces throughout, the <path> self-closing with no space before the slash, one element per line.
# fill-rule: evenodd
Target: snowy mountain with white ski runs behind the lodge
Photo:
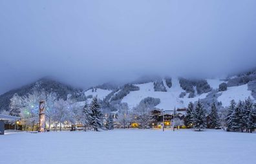
<path fill-rule="evenodd" d="M 212 102 L 224 109 L 232 99 L 237 102 L 250 96 L 256 100 L 256 71 L 224 79 L 144 78 L 119 87 L 91 87 L 85 95 L 89 101 L 98 96 L 116 108 L 120 104 L 130 109 L 143 104 L 166 111 L 187 107 L 189 102 L 200 99 L 208 110 Z"/>

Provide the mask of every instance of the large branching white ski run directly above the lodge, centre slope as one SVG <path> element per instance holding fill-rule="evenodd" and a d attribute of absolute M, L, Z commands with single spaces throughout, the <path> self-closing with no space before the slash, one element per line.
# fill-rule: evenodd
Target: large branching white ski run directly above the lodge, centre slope
<path fill-rule="evenodd" d="M 140 101 L 144 98 L 153 97 L 160 98 L 160 104 L 156 105 L 159 109 L 173 110 L 176 108 L 184 108 L 187 107 L 189 102 L 195 102 L 198 98 L 206 98 L 208 93 L 203 93 L 201 95 L 197 95 L 194 98 L 187 98 L 188 94 L 184 98 L 179 98 L 180 93 L 184 92 L 184 89 L 180 87 L 180 83 L 178 78 L 172 78 L 172 87 L 167 87 L 167 92 L 155 92 L 153 82 L 149 82 L 146 84 L 137 84 L 136 86 L 140 87 L 139 91 L 131 91 L 129 95 L 125 96 L 122 99 L 122 102 L 126 102 L 130 108 L 136 107 L 140 103 Z M 165 86 L 164 81 L 164 86 Z M 166 87 L 166 86 L 165 86 Z"/>

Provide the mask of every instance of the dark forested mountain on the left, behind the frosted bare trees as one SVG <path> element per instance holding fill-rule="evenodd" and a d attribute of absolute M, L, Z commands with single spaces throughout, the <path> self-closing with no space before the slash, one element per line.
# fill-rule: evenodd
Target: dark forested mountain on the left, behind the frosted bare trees
<path fill-rule="evenodd" d="M 58 95 L 58 98 L 63 99 L 67 99 L 68 94 L 76 95 L 76 93 L 80 93 L 82 91 L 81 89 L 57 82 L 56 80 L 52 80 L 50 78 L 41 78 L 36 82 L 17 89 L 12 89 L 3 95 L 0 95 L 0 110 L 8 110 L 10 98 L 12 98 L 15 93 L 17 93 L 19 96 L 24 96 L 28 93 L 32 93 L 34 89 L 37 91 L 44 89 L 46 93 L 55 92 Z"/>

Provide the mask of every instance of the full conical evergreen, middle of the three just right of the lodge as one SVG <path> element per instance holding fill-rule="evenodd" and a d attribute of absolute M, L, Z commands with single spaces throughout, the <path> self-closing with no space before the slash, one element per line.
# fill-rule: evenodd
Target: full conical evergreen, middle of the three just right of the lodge
<path fill-rule="evenodd" d="M 195 110 L 193 111 L 193 127 L 195 129 L 206 128 L 206 113 L 200 100 L 198 100 Z"/>

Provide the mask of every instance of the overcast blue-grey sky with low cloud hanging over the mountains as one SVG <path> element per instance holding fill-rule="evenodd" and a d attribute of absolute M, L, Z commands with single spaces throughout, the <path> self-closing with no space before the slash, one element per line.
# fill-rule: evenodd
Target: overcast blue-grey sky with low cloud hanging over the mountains
<path fill-rule="evenodd" d="M 41 77 L 72 86 L 256 66 L 255 0 L 0 0 L 0 94 Z"/>

